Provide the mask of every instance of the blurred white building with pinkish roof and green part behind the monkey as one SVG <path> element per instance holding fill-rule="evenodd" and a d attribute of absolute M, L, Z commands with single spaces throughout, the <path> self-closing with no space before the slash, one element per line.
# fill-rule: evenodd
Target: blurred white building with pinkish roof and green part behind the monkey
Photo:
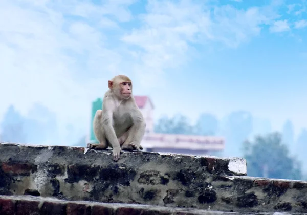
<path fill-rule="evenodd" d="M 153 130 L 153 114 L 155 106 L 148 96 L 134 96 L 136 103 L 146 121 L 146 132 L 141 142 L 143 150 L 149 152 L 183 153 L 192 155 L 212 154 L 225 148 L 223 137 L 159 134 Z M 92 105 L 91 133 L 87 142 L 98 143 L 93 132 L 93 119 L 97 110 L 101 109 L 102 100 L 99 98 Z"/>

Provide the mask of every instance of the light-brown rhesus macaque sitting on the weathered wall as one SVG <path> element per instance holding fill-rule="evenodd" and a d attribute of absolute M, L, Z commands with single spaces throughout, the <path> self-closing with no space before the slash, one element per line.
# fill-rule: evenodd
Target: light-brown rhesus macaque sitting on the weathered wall
<path fill-rule="evenodd" d="M 113 160 L 118 161 L 122 150 L 143 149 L 140 145 L 145 134 L 145 120 L 132 96 L 132 82 L 125 75 L 108 81 L 102 110 L 97 110 L 93 125 L 99 144 L 87 148 L 113 148 Z"/>

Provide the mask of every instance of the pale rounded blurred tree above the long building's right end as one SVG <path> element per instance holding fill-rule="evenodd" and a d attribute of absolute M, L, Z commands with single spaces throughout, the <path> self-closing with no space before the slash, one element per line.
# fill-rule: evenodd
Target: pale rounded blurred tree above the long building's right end
<path fill-rule="evenodd" d="M 217 129 L 218 120 L 209 113 L 201 114 L 195 125 L 195 132 L 198 135 L 216 135 Z"/>

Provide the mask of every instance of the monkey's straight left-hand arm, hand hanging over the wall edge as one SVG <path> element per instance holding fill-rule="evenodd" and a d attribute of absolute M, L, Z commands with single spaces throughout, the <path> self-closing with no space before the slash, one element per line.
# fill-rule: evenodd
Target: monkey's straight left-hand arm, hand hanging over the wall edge
<path fill-rule="evenodd" d="M 113 159 L 117 161 L 120 158 L 120 152 L 122 152 L 122 150 L 113 128 L 114 109 L 115 104 L 113 100 L 106 97 L 103 101 L 102 108 L 102 111 L 104 112 L 102 119 L 103 131 L 105 133 L 106 139 L 109 141 L 111 147 L 113 148 Z"/>

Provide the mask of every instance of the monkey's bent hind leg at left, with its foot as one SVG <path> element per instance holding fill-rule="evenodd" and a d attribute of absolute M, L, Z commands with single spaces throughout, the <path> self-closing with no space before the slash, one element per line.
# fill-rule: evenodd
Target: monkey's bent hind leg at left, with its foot
<path fill-rule="evenodd" d="M 104 131 L 103 131 L 101 118 L 102 118 L 102 110 L 97 110 L 95 117 L 94 117 L 94 121 L 93 121 L 93 125 L 94 125 L 93 127 L 94 127 L 95 137 L 99 141 L 99 144 L 87 143 L 87 148 L 102 150 L 108 147 L 108 143 L 106 141 Z"/>

